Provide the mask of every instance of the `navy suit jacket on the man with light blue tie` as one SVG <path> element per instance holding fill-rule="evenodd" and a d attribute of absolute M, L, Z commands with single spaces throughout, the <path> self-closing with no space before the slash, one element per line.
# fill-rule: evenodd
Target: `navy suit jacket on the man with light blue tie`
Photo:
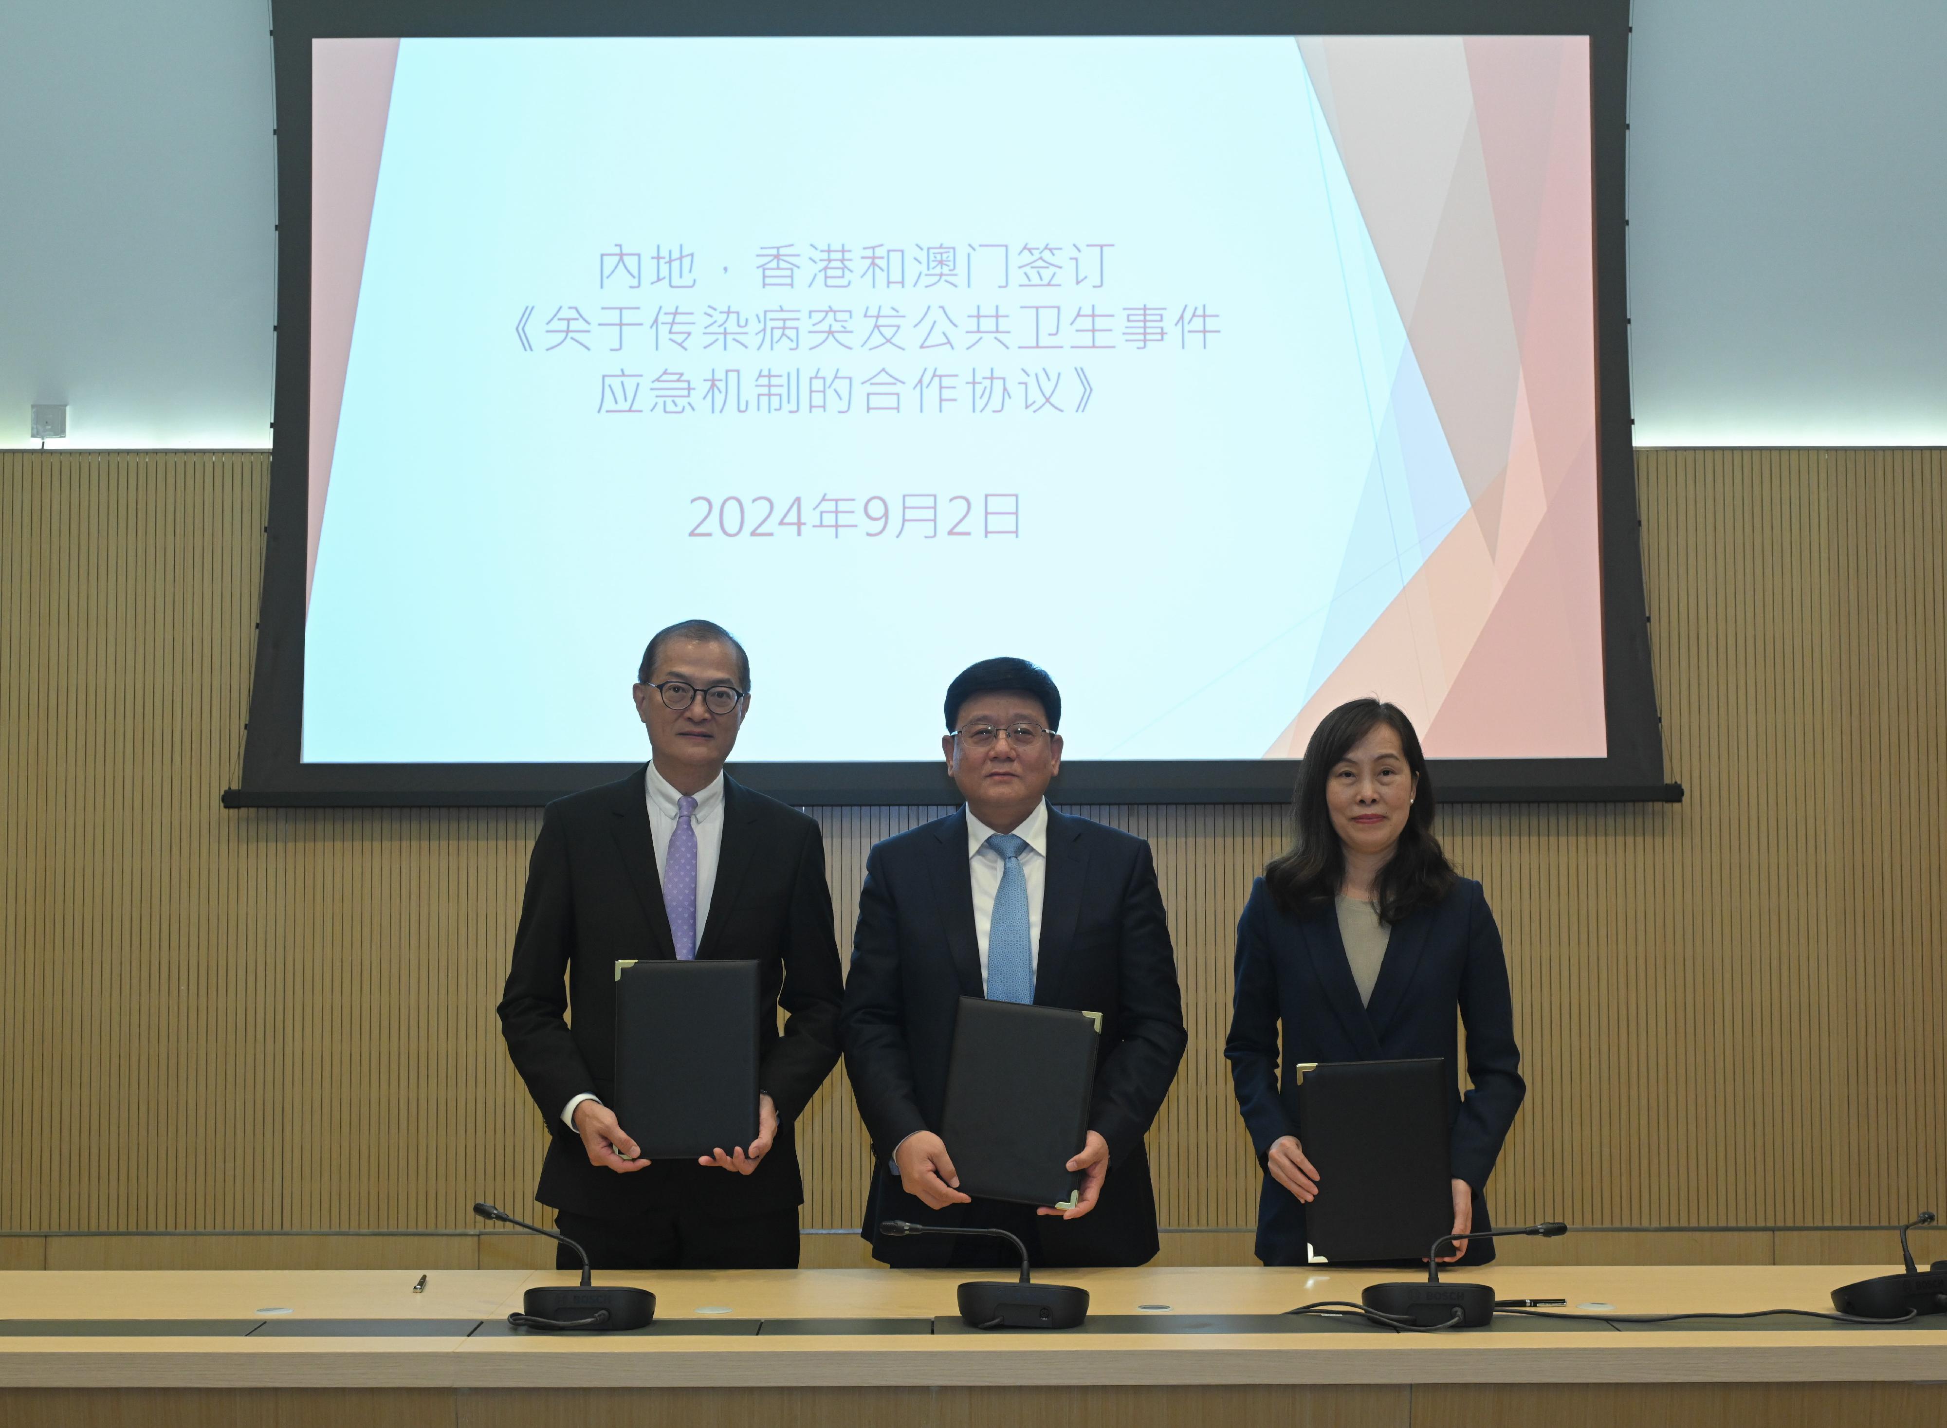
<path fill-rule="evenodd" d="M 962 996 L 981 994 L 968 819 L 958 811 L 872 848 L 845 982 L 845 1070 L 876 1161 L 861 1233 L 890 1265 L 944 1265 L 954 1239 L 886 1239 L 878 1235 L 880 1220 L 960 1224 L 966 1214 L 958 1204 L 929 1210 L 888 1165 L 905 1136 L 938 1130 L 954 1016 Z M 1040 1220 L 1042 1259 L 1141 1265 L 1157 1253 L 1157 1196 L 1143 1134 L 1188 1041 L 1176 953 L 1147 842 L 1047 811 L 1034 1000 L 1102 1012 L 1088 1128 L 1110 1150 L 1096 1208 L 1079 1220 Z"/>

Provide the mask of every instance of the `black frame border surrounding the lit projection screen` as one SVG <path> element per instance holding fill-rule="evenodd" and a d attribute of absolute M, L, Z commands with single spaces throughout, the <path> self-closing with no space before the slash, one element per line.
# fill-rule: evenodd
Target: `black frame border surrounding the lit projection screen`
<path fill-rule="evenodd" d="M 855 0 L 843 10 L 779 4 L 617 6 L 567 0 L 545 8 L 489 0 L 275 0 L 278 160 L 276 411 L 263 591 L 243 770 L 226 807 L 533 807 L 611 782 L 619 763 L 306 765 L 304 566 L 310 482 L 312 352 L 312 41 L 319 37 L 861 37 L 861 35 L 1451 35 L 1451 0 L 999 0 L 977 19 L 913 0 Z M 1476 0 L 1470 35 L 1587 35 L 1595 191 L 1597 486 L 1602 759 L 1437 759 L 1443 802 L 1676 802 L 1665 780 L 1649 660 L 1649 617 L 1630 428 L 1626 288 L 1626 148 L 1630 0 Z M 644 642 L 650 630 L 644 630 Z M 1053 671 L 1059 679 L 1059 669 Z M 465 691 L 456 691 L 463 702 Z M 621 691 L 617 689 L 617 698 Z M 644 741 L 644 757 L 646 757 Z M 796 805 L 937 805 L 958 802 L 929 747 L 915 761 L 736 763 L 736 778 Z M 1283 803 L 1295 759 L 1073 761 L 1051 794 L 1069 803 Z"/>

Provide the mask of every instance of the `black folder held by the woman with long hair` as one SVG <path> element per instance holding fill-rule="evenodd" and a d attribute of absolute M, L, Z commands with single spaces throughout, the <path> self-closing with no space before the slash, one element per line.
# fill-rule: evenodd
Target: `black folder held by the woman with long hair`
<path fill-rule="evenodd" d="M 1285 1070 L 1318 1196 L 1306 1237 L 1330 1261 L 1425 1259 L 1454 1228 L 1445 1062 L 1347 1060 Z"/>

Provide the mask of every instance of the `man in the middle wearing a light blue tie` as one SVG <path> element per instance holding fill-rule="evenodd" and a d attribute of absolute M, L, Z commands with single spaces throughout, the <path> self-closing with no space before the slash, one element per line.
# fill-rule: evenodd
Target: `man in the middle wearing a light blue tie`
<path fill-rule="evenodd" d="M 983 660 L 946 691 L 946 770 L 966 807 L 866 860 L 845 984 L 845 1070 L 876 1171 L 861 1233 L 896 1267 L 1010 1265 L 972 1235 L 886 1237 L 884 1220 L 1009 1230 L 1036 1265 L 1143 1265 L 1157 1196 L 1143 1134 L 1182 1060 L 1176 953 L 1149 844 L 1055 813 L 1061 695 L 1026 660 Z M 962 996 L 1102 1014 L 1088 1140 L 1069 1210 L 974 1200 L 938 1136 Z"/>

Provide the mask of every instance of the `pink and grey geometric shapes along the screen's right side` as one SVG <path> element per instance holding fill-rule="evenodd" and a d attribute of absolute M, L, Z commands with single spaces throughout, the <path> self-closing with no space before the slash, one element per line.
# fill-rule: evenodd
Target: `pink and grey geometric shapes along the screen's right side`
<path fill-rule="evenodd" d="M 1435 757 L 1600 757 L 1587 39 L 1299 47 L 1470 514 L 1266 757 L 1371 693 Z"/>

